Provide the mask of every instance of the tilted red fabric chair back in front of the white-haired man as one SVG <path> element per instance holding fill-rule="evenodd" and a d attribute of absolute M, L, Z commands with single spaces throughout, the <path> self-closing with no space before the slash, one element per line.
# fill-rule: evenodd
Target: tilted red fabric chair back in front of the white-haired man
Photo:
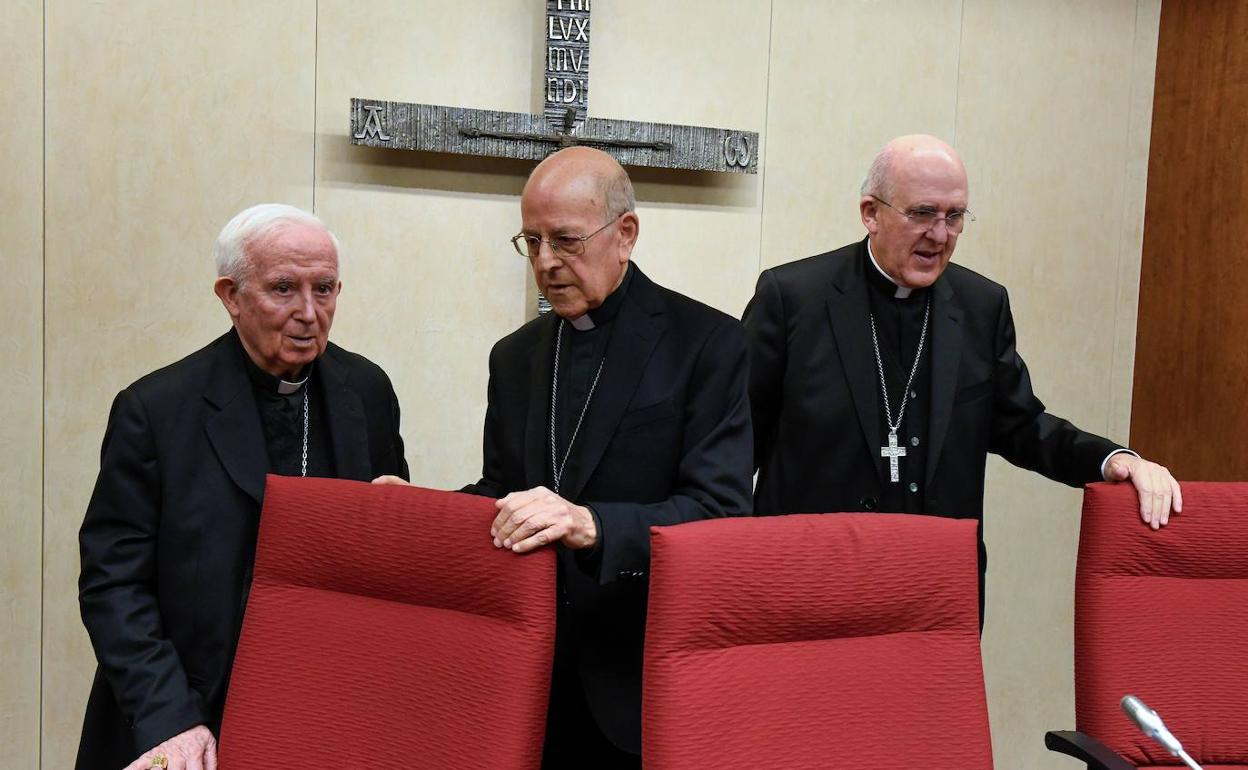
<path fill-rule="evenodd" d="M 493 500 L 268 477 L 222 768 L 519 768 L 542 759 L 554 559 Z"/>

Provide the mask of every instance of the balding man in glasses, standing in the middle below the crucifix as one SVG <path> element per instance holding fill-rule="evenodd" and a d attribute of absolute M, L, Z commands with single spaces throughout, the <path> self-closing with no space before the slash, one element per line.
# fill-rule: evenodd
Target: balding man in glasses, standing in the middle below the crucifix
<path fill-rule="evenodd" d="M 636 769 L 650 527 L 751 507 L 745 334 L 630 261 L 633 186 L 605 152 L 539 163 L 520 220 L 512 243 L 553 312 L 490 352 L 482 478 L 464 490 L 499 498 L 495 548 L 558 550 L 543 768 Z"/>

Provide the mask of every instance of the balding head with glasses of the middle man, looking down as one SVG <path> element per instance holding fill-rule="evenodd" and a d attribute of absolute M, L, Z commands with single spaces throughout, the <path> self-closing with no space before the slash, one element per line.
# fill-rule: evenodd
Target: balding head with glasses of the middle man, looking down
<path fill-rule="evenodd" d="M 579 318 L 624 280 L 640 227 L 634 207 L 628 173 L 602 150 L 560 150 L 529 175 L 520 232 L 542 240 L 529 262 L 555 313 Z"/>

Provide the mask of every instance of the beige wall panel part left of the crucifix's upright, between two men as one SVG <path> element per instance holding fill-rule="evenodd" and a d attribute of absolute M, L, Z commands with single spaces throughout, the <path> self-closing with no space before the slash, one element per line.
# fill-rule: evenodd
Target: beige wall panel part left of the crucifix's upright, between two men
<path fill-rule="evenodd" d="M 542 6 L 322 0 L 317 213 L 347 253 L 334 339 L 381 364 L 403 408 L 412 480 L 480 474 L 485 362 L 528 317 L 508 243 L 529 163 L 353 147 L 353 96 L 532 112 Z"/>

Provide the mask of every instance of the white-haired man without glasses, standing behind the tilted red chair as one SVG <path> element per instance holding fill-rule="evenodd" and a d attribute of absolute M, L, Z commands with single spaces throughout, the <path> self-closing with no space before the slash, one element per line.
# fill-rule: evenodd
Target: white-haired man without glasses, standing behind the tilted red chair
<path fill-rule="evenodd" d="M 100 666 L 79 770 L 216 768 L 265 474 L 407 477 L 377 364 L 328 342 L 338 242 L 262 203 L 216 242 L 233 328 L 112 404 L 79 534 L 82 623 Z"/>

